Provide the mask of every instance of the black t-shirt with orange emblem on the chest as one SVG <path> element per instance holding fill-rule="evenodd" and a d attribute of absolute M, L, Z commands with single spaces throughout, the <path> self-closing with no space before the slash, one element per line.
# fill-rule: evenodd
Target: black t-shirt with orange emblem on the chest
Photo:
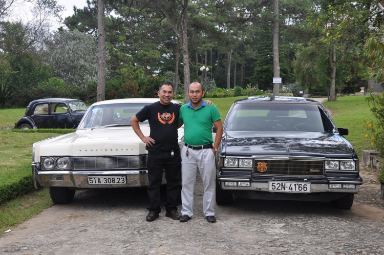
<path fill-rule="evenodd" d="M 150 137 L 155 140 L 152 147 L 145 146 L 146 150 L 179 150 L 177 125 L 181 104 L 170 103 L 164 105 L 156 102 L 146 105 L 136 114 L 136 118 L 143 122 L 148 120 L 150 123 Z"/>

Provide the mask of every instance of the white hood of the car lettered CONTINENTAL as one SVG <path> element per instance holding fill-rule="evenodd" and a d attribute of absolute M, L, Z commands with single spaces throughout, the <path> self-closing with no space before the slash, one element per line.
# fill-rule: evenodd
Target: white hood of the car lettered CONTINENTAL
<path fill-rule="evenodd" d="M 145 136 L 150 134 L 148 125 L 141 125 Z M 183 129 L 179 129 L 179 138 Z M 34 144 L 35 155 L 39 156 L 113 156 L 145 154 L 145 144 L 131 126 L 77 130 Z"/>

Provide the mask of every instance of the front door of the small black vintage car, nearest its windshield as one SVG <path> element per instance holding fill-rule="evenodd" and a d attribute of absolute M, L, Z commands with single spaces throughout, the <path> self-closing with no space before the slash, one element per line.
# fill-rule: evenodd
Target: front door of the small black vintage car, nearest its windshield
<path fill-rule="evenodd" d="M 72 129 L 74 123 L 65 102 L 52 102 L 51 103 L 51 128 L 53 129 Z"/>

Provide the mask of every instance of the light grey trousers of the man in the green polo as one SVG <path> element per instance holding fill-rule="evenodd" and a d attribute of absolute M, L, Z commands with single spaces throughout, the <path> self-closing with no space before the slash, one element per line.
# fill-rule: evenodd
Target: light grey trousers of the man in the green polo
<path fill-rule="evenodd" d="M 186 152 L 188 150 L 188 156 Z M 194 188 L 197 171 L 204 184 L 203 212 L 204 216 L 215 216 L 215 155 L 210 148 L 193 150 L 183 146 L 181 150 L 181 189 L 182 215 L 194 215 Z"/>

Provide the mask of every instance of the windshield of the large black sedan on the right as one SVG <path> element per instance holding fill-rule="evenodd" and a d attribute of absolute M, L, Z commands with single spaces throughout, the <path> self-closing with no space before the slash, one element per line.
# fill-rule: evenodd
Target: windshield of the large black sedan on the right
<path fill-rule="evenodd" d="M 286 130 L 324 133 L 324 114 L 321 111 L 315 104 L 238 103 L 228 115 L 226 128 L 229 131 Z"/>

